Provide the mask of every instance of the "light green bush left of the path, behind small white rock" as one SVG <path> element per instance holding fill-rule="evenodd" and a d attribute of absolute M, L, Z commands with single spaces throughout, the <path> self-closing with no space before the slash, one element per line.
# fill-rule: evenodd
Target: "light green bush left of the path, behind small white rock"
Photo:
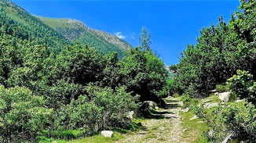
<path fill-rule="evenodd" d="M 137 109 L 137 104 L 125 90 L 116 88 L 114 91 L 112 88 L 89 85 L 86 88 L 88 95 L 79 96 L 65 107 L 62 121 L 68 123 L 63 125 L 69 129 L 85 127 L 90 133 L 108 130 L 110 127 L 130 126 L 126 116 L 128 112 Z"/>

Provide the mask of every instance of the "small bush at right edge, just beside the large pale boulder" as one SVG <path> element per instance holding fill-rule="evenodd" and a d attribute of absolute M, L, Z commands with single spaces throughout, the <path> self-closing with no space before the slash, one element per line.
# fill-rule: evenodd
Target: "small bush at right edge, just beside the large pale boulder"
<path fill-rule="evenodd" d="M 249 102 L 256 103 L 255 82 L 249 72 L 237 70 L 237 75 L 229 78 L 227 84 L 236 97 L 246 98 Z"/>

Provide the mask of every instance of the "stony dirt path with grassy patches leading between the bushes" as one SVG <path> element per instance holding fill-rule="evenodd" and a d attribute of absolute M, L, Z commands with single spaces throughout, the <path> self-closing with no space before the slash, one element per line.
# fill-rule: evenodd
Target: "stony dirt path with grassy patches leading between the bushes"
<path fill-rule="evenodd" d="M 181 111 L 181 98 L 166 98 L 167 109 L 157 109 L 152 119 L 142 122 L 143 129 L 131 134 L 117 142 L 171 142 L 181 143 L 182 127 L 179 117 Z"/>

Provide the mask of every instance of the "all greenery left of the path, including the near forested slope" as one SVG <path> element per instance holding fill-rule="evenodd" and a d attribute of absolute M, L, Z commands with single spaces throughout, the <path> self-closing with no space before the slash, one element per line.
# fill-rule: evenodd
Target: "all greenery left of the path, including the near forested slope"
<path fill-rule="evenodd" d="M 127 49 L 120 60 L 119 51 L 104 55 L 97 47 L 72 45 L 12 2 L 1 1 L 0 14 L 0 141 L 130 130 L 136 124 L 126 116 L 142 102 L 164 106 L 159 95 L 166 69 L 149 45 Z M 148 37 L 144 29 L 144 43 Z"/>

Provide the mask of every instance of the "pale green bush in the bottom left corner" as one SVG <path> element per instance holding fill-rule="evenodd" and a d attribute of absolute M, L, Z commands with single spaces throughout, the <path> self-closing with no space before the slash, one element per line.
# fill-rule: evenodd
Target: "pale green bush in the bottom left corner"
<path fill-rule="evenodd" d="M 27 88 L 0 86 L 0 141 L 33 141 L 52 115 L 42 107 L 43 99 Z"/>

